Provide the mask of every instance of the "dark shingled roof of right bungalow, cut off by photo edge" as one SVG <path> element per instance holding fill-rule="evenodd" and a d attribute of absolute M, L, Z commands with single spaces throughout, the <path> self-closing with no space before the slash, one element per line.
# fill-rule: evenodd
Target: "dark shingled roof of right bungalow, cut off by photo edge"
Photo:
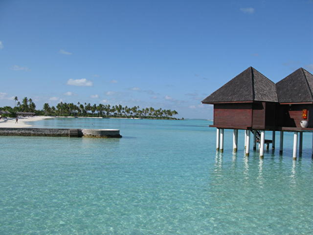
<path fill-rule="evenodd" d="M 313 102 L 313 75 L 300 68 L 276 83 L 280 103 Z"/>

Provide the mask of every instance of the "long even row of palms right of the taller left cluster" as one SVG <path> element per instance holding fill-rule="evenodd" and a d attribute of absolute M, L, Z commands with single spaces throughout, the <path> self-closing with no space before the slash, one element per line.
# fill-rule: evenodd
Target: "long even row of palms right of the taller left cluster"
<path fill-rule="evenodd" d="M 176 110 L 142 108 L 139 106 L 128 107 L 110 104 L 90 104 L 90 103 L 58 103 L 55 107 L 44 104 L 45 115 L 53 116 L 81 116 L 81 117 L 126 117 L 126 118 L 173 118 L 178 115 Z"/>

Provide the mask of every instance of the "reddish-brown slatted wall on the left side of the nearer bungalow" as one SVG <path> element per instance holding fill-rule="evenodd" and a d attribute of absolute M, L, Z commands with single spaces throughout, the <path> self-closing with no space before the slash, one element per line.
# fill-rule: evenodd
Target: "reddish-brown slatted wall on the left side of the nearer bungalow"
<path fill-rule="evenodd" d="M 250 127 L 252 104 L 214 104 L 214 125 L 229 128 Z"/>

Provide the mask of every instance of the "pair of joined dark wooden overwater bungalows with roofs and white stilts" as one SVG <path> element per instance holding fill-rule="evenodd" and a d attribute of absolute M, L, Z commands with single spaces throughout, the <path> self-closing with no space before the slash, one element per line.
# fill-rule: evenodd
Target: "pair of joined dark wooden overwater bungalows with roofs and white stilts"
<path fill-rule="evenodd" d="M 259 142 L 260 157 L 264 144 L 275 147 L 275 131 L 280 131 L 280 153 L 284 131 L 294 132 L 293 159 L 296 159 L 298 138 L 302 153 L 303 132 L 313 132 L 313 74 L 300 68 L 277 82 L 269 80 L 252 67 L 231 79 L 202 100 L 214 105 L 217 128 L 216 148 L 223 152 L 224 129 L 233 129 L 233 149 L 237 151 L 238 129 L 245 131 L 246 156 L 249 155 L 250 133 L 253 150 Z M 265 140 L 265 131 L 272 131 L 272 140 Z"/>

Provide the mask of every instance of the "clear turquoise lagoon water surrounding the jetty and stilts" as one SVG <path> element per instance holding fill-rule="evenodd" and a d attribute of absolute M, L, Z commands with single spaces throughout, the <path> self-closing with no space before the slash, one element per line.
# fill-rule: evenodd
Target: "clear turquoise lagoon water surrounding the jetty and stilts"
<path fill-rule="evenodd" d="M 54 118 L 122 139 L 0 137 L 0 235 L 313 234 L 312 135 L 284 155 L 216 153 L 206 120 Z M 271 133 L 267 133 L 270 139 Z M 279 136 L 277 133 L 277 144 Z"/>

